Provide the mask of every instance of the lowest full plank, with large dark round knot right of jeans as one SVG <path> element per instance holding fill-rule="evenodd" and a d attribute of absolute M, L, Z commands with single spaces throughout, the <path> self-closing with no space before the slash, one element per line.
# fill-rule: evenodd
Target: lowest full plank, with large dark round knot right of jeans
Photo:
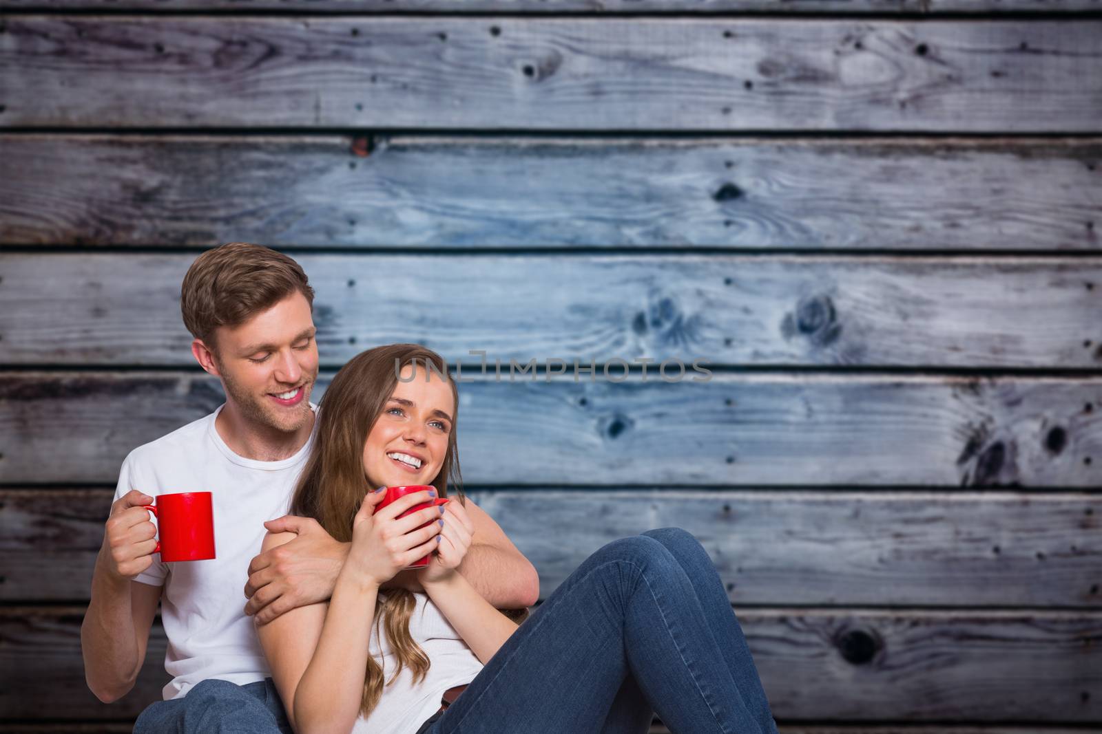
<path fill-rule="evenodd" d="M 0 610 L 9 716 L 118 719 L 159 698 L 160 629 L 123 702 L 107 706 L 84 689 L 82 612 Z M 1102 721 L 1099 612 L 736 612 L 777 719 Z"/>

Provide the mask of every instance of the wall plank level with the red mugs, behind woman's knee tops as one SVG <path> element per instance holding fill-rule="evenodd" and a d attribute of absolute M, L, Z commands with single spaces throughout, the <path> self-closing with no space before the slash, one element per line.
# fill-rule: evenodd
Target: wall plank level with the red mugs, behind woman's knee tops
<path fill-rule="evenodd" d="M 1102 606 L 1099 495 L 541 489 L 471 497 L 536 566 L 541 598 L 604 544 L 681 527 L 709 551 L 735 604 Z M 110 501 L 108 490 L 0 491 L 0 600 L 87 599 Z"/>

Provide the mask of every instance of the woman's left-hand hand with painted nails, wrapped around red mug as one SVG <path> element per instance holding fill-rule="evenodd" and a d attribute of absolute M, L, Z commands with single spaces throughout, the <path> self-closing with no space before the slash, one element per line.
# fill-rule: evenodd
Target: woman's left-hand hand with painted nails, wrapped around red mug
<path fill-rule="evenodd" d="M 398 517 L 413 505 L 431 503 L 435 493 L 414 492 L 395 500 L 375 513 L 382 502 L 386 487 L 369 492 L 353 518 L 352 549 L 345 568 L 363 583 L 381 585 L 422 556 L 436 549 L 436 536 L 442 524 L 440 511 L 430 505 L 424 510 Z M 375 513 L 372 515 L 372 513 Z M 426 527 L 420 527 L 429 523 Z"/>

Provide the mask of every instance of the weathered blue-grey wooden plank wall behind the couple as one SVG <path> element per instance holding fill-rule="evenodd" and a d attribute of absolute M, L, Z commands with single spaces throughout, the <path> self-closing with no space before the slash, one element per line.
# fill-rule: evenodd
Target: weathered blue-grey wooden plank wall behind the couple
<path fill-rule="evenodd" d="M 486 352 L 542 594 L 699 537 L 786 734 L 1102 724 L 1100 9 L 0 0 L 0 732 L 158 697 L 159 628 L 109 706 L 78 629 L 122 457 L 222 401 L 177 294 L 231 240 L 306 267 L 320 394 Z"/>

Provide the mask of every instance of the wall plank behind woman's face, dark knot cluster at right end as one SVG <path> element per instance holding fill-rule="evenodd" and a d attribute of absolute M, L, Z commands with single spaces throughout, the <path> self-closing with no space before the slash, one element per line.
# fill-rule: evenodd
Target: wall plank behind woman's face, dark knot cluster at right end
<path fill-rule="evenodd" d="M 323 373 L 312 399 L 318 399 Z M 1102 379 L 462 375 L 463 476 L 517 485 L 1102 485 Z M 115 484 L 134 447 L 223 402 L 209 376 L 9 372 L 0 483 Z"/>

